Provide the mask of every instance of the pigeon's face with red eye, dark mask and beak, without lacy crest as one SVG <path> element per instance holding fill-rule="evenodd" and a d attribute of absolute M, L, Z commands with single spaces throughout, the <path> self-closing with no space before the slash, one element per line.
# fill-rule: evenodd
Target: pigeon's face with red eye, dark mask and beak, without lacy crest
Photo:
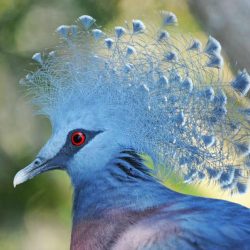
<path fill-rule="evenodd" d="M 69 113 L 64 110 L 64 116 L 57 119 L 60 122 L 53 124 L 51 138 L 35 160 L 16 174 L 14 186 L 54 169 L 65 170 L 73 185 L 78 185 L 104 172 L 121 145 L 127 145 L 118 131 L 100 123 L 93 109 L 80 113 L 71 106 Z"/>

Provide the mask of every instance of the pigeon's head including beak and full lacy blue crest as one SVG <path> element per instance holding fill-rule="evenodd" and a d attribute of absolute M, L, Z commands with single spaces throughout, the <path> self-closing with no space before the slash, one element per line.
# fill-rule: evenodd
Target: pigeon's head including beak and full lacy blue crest
<path fill-rule="evenodd" d="M 34 54 L 40 67 L 21 83 L 49 117 L 52 136 L 14 185 L 55 168 L 77 185 L 130 148 L 186 183 L 207 178 L 246 191 L 249 109 L 232 107 L 246 101 L 250 76 L 223 80 L 220 43 L 209 37 L 202 50 L 200 41 L 166 31 L 177 22 L 173 13 L 162 17 L 156 34 L 140 20 L 112 34 L 92 29 L 95 19 L 84 15 L 58 27 L 55 51 Z"/>

